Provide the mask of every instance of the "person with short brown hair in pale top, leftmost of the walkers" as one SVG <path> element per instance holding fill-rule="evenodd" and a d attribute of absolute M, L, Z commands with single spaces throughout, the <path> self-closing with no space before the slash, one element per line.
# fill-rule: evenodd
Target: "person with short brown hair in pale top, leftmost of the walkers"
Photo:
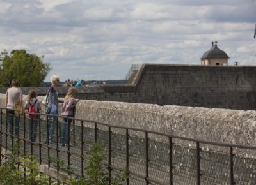
<path fill-rule="evenodd" d="M 15 123 L 15 135 L 19 135 L 19 118 L 13 115 L 15 114 L 15 104 L 19 103 L 22 105 L 22 91 L 18 87 L 19 81 L 13 79 L 11 81 L 11 87 L 6 91 L 6 108 L 8 114 L 8 129 L 9 133 L 13 135 L 13 122 Z"/>

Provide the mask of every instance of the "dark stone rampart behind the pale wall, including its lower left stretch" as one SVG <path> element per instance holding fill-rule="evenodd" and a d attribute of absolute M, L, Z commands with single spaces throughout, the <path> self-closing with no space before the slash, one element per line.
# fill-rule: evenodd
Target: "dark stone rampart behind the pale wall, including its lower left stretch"
<path fill-rule="evenodd" d="M 255 66 L 143 64 L 132 84 L 77 88 L 77 98 L 101 101 L 255 110 Z M 34 88 L 34 87 L 33 87 Z M 24 94 L 31 87 L 23 87 Z M 47 87 L 35 87 L 40 96 Z M 60 97 L 67 87 L 58 87 Z M 5 93 L 6 89 L 0 89 Z"/>

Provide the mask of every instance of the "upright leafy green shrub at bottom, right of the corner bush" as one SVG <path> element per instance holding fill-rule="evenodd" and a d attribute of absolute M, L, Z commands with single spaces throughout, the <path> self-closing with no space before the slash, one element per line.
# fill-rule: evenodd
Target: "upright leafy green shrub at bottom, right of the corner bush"
<path fill-rule="evenodd" d="M 94 143 L 92 150 L 87 152 L 90 156 L 88 159 L 88 167 L 85 168 L 85 177 L 70 178 L 69 182 L 72 185 L 81 184 L 81 185 L 107 185 L 109 180 L 111 184 L 120 185 L 122 181 L 127 179 L 128 171 L 125 170 L 121 175 L 112 175 L 109 179 L 108 170 L 104 168 L 101 164 L 106 158 L 102 155 L 103 152 L 102 145 Z"/>

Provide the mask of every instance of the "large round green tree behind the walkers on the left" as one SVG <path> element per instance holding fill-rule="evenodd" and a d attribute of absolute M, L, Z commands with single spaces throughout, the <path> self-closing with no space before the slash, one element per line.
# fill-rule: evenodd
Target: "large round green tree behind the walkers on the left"
<path fill-rule="evenodd" d="M 0 87 L 8 87 L 10 80 L 17 79 L 21 87 L 37 87 L 51 70 L 49 63 L 44 63 L 44 56 L 28 54 L 26 50 L 6 50 L 0 55 Z"/>

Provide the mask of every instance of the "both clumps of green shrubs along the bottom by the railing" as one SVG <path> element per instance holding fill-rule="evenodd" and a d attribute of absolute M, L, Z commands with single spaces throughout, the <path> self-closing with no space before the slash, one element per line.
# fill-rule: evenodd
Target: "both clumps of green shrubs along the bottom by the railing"
<path fill-rule="evenodd" d="M 38 162 L 31 155 L 19 155 L 20 145 L 13 147 L 12 154 L 8 155 L 6 163 L 0 165 L 0 185 L 11 184 L 61 184 L 60 181 L 50 179 L 47 175 L 42 174 L 38 168 Z M 106 158 L 102 155 L 103 147 L 94 143 L 92 150 L 87 152 L 90 156 L 88 159 L 88 167 L 85 168 L 85 177 L 70 177 L 69 183 L 72 185 L 107 185 L 111 180 L 113 185 L 121 185 L 128 178 L 128 170 L 124 170 L 120 175 L 113 175 L 109 179 L 108 169 L 102 166 L 102 161 Z M 68 175 L 74 175 L 70 166 L 64 166 L 65 161 L 51 158 L 51 163 L 55 163 L 61 170 L 67 172 Z"/>

